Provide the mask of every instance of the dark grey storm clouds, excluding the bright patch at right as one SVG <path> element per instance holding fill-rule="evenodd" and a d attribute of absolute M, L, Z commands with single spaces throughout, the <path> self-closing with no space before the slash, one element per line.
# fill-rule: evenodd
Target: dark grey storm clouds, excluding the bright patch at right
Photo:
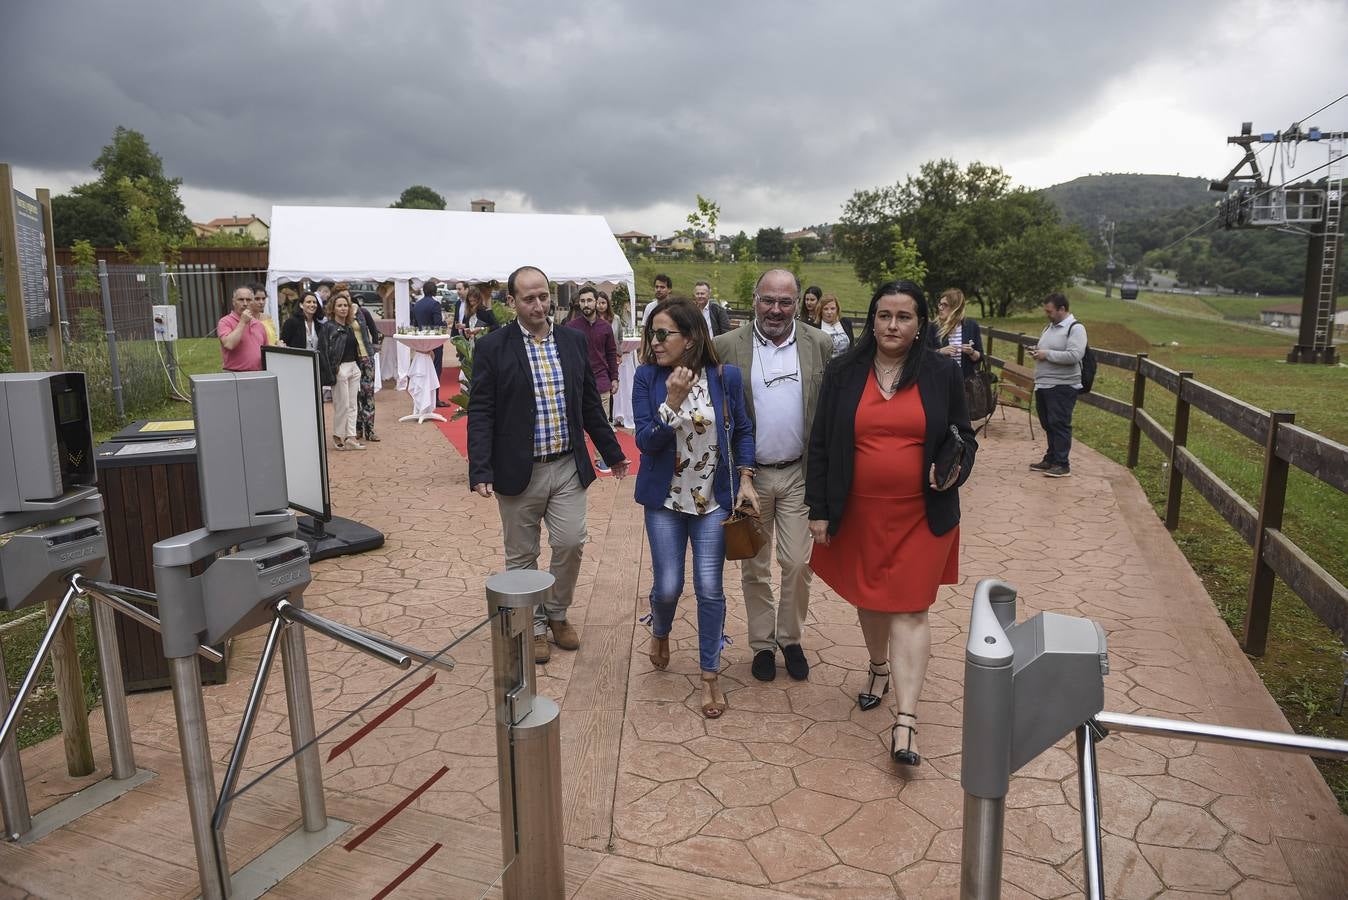
<path fill-rule="evenodd" d="M 259 197 L 841 202 L 971 133 L 1051 129 L 1229 9 L 1024 5 L 7 4 L 0 159 L 84 168 L 120 124 Z"/>

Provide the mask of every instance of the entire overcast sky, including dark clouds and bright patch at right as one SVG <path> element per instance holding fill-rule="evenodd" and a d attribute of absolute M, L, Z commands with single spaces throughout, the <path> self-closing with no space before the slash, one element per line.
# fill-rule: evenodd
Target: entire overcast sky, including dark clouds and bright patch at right
<path fill-rule="evenodd" d="M 272 203 L 600 213 L 667 234 L 837 221 L 940 156 L 1042 187 L 1220 176 L 1225 136 L 1348 92 L 1348 0 L 4 4 L 16 187 L 59 193 L 117 125 L 197 221 Z M 1308 124 L 1348 129 L 1348 100 Z M 1298 171 L 1325 162 L 1302 147 Z M 1293 170 L 1287 170 L 1287 175 Z"/>

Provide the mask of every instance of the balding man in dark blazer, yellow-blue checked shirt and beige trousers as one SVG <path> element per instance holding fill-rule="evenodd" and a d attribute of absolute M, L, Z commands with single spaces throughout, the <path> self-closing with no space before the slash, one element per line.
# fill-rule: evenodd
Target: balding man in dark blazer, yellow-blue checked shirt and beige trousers
<path fill-rule="evenodd" d="M 538 567 L 547 523 L 557 583 L 534 612 L 534 659 L 546 663 L 549 629 L 562 649 L 581 645 L 566 610 L 585 550 L 585 489 L 594 481 L 585 435 L 619 478 L 628 461 L 600 401 L 585 335 L 553 327 L 547 318 L 547 276 L 532 265 L 515 269 L 506 302 L 515 321 L 473 348 L 468 480 L 483 497 L 496 497 L 507 569 Z"/>

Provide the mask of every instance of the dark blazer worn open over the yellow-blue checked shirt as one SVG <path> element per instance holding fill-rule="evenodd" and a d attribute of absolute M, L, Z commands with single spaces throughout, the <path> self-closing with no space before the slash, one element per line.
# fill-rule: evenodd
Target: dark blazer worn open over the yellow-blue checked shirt
<path fill-rule="evenodd" d="M 589 346 L 576 329 L 553 326 L 566 387 L 566 424 L 581 485 L 594 481 L 585 449 L 589 434 L 604 459 L 627 457 L 613 437 L 589 368 Z M 473 348 L 473 385 L 468 392 L 468 484 L 491 484 L 507 497 L 524 493 L 534 476 L 534 371 L 519 322 L 484 334 Z"/>

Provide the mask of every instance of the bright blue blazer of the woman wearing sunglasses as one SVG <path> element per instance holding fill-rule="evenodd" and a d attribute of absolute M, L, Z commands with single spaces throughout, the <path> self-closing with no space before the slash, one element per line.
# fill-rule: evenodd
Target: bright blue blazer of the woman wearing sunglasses
<path fill-rule="evenodd" d="M 716 414 L 716 446 L 720 454 L 716 474 L 712 476 L 712 493 L 721 509 L 731 509 L 731 478 L 740 466 L 754 468 L 754 424 L 744 410 L 744 383 L 740 371 L 733 365 L 723 368 L 725 384 L 716 369 L 706 371 L 706 385 L 712 395 L 712 408 Z M 661 508 L 670 496 L 674 482 L 674 428 L 665 424 L 659 416 L 661 404 L 667 391 L 665 383 L 671 369 L 659 365 L 643 365 L 636 369 L 632 383 L 632 418 L 636 419 L 636 447 L 642 451 L 642 465 L 636 470 L 636 503 L 643 507 Z M 725 439 L 727 403 L 729 404 L 731 441 Z M 731 446 L 735 447 L 733 465 Z"/>

